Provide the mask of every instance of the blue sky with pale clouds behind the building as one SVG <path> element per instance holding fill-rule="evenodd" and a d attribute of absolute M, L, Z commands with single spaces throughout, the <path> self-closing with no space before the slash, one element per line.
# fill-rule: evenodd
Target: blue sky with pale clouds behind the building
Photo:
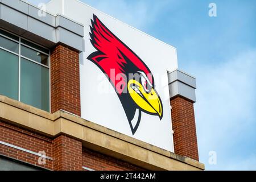
<path fill-rule="evenodd" d="M 177 48 L 179 68 L 197 78 L 197 138 L 207 170 L 256 170 L 256 1 L 83 2 Z M 211 2 L 217 17 L 208 15 Z M 216 165 L 208 163 L 210 151 Z"/>

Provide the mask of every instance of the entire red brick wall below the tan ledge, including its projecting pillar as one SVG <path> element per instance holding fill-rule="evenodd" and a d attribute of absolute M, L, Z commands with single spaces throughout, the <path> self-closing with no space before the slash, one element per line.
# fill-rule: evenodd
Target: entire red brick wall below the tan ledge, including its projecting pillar
<path fill-rule="evenodd" d="M 0 144 L 0 155 L 50 170 L 81 171 L 82 166 L 101 171 L 144 170 L 133 164 L 82 148 L 81 141 L 71 137 L 60 135 L 51 139 L 2 121 L 0 121 L 0 141 L 36 153 L 45 151 L 46 156 L 52 160 L 46 159 L 46 164 L 40 165 L 38 155 Z"/>

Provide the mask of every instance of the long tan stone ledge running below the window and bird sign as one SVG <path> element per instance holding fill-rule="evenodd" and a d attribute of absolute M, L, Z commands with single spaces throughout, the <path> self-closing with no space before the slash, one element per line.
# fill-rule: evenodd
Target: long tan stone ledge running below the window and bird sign
<path fill-rule="evenodd" d="M 151 170 L 203 170 L 204 164 L 86 121 L 65 111 L 54 114 L 0 96 L 0 119 L 56 137 L 66 134 L 86 148 Z"/>

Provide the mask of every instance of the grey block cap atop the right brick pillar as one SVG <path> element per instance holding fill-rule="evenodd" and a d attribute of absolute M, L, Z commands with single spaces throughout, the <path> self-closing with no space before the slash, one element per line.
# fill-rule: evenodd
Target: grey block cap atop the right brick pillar
<path fill-rule="evenodd" d="M 185 72 L 176 70 L 168 73 L 170 98 L 182 96 L 196 102 L 196 78 Z"/>

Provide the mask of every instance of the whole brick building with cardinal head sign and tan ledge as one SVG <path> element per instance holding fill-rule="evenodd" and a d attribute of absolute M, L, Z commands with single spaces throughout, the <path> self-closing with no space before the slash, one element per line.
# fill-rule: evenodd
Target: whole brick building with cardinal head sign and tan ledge
<path fill-rule="evenodd" d="M 203 170 L 176 49 L 76 0 L 44 8 L 0 1 L 0 169 Z"/>

